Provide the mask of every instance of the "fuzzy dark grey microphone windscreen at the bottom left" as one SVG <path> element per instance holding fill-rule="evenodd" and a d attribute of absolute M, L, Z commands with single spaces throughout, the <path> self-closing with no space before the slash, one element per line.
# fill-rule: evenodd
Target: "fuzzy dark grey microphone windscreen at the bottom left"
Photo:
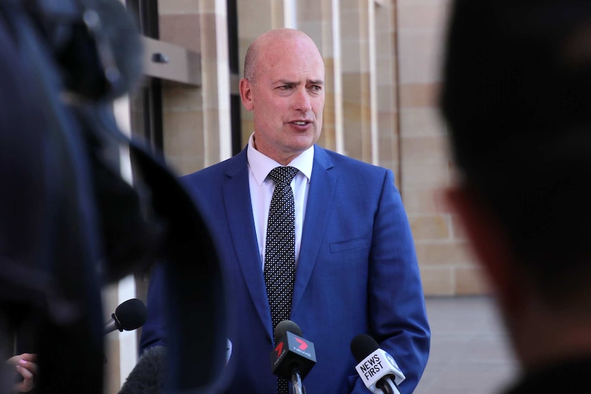
<path fill-rule="evenodd" d="M 160 394 L 166 360 L 166 347 L 154 346 L 146 349 L 118 394 Z"/>

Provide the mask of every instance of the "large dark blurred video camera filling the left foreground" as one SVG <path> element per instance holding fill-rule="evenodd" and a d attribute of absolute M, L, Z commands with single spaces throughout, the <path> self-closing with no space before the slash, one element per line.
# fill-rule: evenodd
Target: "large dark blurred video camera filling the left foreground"
<path fill-rule="evenodd" d="M 182 307 L 224 302 L 200 212 L 112 112 L 142 77 L 141 44 L 119 0 L 0 0 L 1 393 L 14 389 L 16 363 L 25 378 L 17 390 L 34 383 L 36 393 L 102 394 L 102 286 L 155 260 L 176 283 L 166 294 L 178 340 L 168 387 L 206 392 L 224 365 L 225 316 L 206 303 L 191 314 Z M 130 149 L 133 183 L 113 147 Z M 199 282 L 179 279 L 188 275 Z M 184 341 L 185 330 L 203 341 Z M 23 352 L 37 355 L 38 371 L 19 362 Z"/>

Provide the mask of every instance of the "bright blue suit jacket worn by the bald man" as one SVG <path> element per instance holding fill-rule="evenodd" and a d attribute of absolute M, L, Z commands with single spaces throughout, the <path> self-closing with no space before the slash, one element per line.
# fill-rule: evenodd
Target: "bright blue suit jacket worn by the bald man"
<path fill-rule="evenodd" d="M 226 276 L 228 392 L 275 393 L 272 323 L 246 149 L 182 180 L 213 232 Z M 141 349 L 166 343 L 161 287 L 156 271 Z M 309 393 L 369 392 L 350 352 L 352 338 L 362 333 L 394 356 L 407 376 L 402 393 L 414 390 L 429 355 L 430 333 L 411 231 L 391 171 L 315 146 L 291 320 L 315 345 L 317 364 L 304 380 Z"/>

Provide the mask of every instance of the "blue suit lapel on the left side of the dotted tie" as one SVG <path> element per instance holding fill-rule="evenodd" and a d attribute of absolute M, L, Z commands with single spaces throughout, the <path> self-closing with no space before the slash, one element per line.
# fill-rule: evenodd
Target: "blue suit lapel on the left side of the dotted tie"
<path fill-rule="evenodd" d="M 267 300 L 265 278 L 263 277 L 263 265 L 258 254 L 258 243 L 254 230 L 254 219 L 252 218 L 246 149 L 232 160 L 226 175 L 228 178 L 224 183 L 222 193 L 224 195 L 226 214 L 228 215 L 232 244 L 258 316 L 267 329 L 269 337 L 273 338 L 269 301 Z"/>

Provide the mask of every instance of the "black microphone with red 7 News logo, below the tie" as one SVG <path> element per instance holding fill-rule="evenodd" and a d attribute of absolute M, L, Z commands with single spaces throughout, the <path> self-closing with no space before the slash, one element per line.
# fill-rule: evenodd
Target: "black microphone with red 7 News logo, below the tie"
<path fill-rule="evenodd" d="M 291 320 L 278 323 L 275 328 L 275 349 L 271 352 L 272 372 L 291 380 L 291 392 L 305 394 L 302 380 L 316 364 L 314 344 L 302 338 L 302 330 Z"/>

